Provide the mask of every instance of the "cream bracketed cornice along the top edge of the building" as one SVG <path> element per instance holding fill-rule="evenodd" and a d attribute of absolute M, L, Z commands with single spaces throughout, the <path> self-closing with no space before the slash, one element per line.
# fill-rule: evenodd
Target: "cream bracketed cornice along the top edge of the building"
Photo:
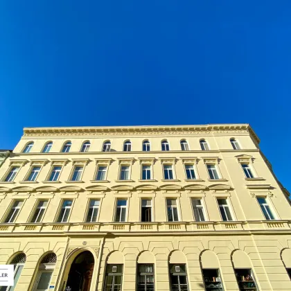
<path fill-rule="evenodd" d="M 155 130 L 169 131 L 227 131 L 227 130 L 247 130 L 249 134 L 260 142 L 258 136 L 248 123 L 213 123 L 206 125 L 130 125 L 130 126 L 72 126 L 72 127 L 24 127 L 24 136 L 39 135 L 42 136 L 53 134 L 105 134 L 110 132 L 129 133 L 129 132 L 154 132 Z"/>

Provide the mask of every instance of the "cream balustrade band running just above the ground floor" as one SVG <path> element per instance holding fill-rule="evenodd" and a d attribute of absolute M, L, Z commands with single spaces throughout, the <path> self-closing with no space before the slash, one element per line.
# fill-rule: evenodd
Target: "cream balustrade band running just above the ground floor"
<path fill-rule="evenodd" d="M 87 222 L 87 223 L 5 223 L 1 233 L 78 233 L 78 232 L 219 232 L 219 231 L 284 231 L 291 220 L 256 220 L 229 222 Z"/>

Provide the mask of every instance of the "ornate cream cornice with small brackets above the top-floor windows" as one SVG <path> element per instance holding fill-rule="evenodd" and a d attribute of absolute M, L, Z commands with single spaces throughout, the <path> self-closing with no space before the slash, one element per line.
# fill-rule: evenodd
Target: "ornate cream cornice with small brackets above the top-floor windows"
<path fill-rule="evenodd" d="M 125 127 L 25 127 L 24 136 L 149 136 L 166 134 L 248 133 L 260 142 L 252 127 L 241 124 L 151 125 Z"/>

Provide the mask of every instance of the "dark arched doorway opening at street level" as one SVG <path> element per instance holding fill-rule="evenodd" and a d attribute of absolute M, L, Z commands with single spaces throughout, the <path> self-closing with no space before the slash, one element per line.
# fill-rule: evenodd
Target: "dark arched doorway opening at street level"
<path fill-rule="evenodd" d="M 67 288 L 70 291 L 89 291 L 94 270 L 94 256 L 89 251 L 76 256 L 71 264 Z M 71 289 L 69 289 L 71 288 Z"/>

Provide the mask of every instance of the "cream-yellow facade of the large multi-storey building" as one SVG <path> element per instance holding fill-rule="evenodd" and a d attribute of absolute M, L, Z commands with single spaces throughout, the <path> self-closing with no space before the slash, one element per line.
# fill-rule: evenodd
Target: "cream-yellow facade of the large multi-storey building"
<path fill-rule="evenodd" d="M 202 139 L 207 145 L 201 145 Z M 233 148 L 231 139 L 240 149 Z M 181 145 L 182 140 L 188 146 Z M 90 145 L 83 148 L 87 141 Z M 108 141 L 110 151 L 103 152 Z M 127 152 L 126 141 L 131 143 Z M 144 141 L 149 151 L 143 151 Z M 168 141 L 169 150 L 161 150 L 162 141 Z M 48 142 L 49 151 L 43 152 Z M 68 142 L 69 152 L 62 152 Z M 33 145 L 27 150 L 29 143 Z M 243 290 L 236 269 L 252 270 L 256 290 L 291 290 L 289 193 L 258 143 L 247 124 L 25 128 L 0 168 L 0 264 L 25 254 L 15 291 L 39 290 L 35 282 L 42 270 L 53 272 L 46 290 L 65 290 L 71 264 L 85 250 L 94 257 L 94 268 L 91 286 L 82 290 L 105 290 L 110 264 L 123 265 L 122 290 L 137 290 L 141 263 L 153 264 L 155 290 L 172 290 L 169 264 L 185 264 L 188 289 L 182 290 L 205 290 L 202 270 L 208 269 L 218 270 L 224 290 Z M 58 181 L 49 181 L 53 167 L 60 170 Z M 104 173 L 98 181 L 100 168 Z M 143 179 L 143 169 L 150 179 Z M 252 177 L 246 176 L 247 170 Z M 210 172 L 217 179 L 211 179 Z M 69 215 L 58 222 L 64 200 L 71 200 L 65 210 Z M 98 201 L 98 215 L 96 222 L 87 222 L 92 200 Z M 116 214 L 119 200 L 124 216 Z M 142 200 L 151 206 L 151 222 L 141 221 Z M 205 221 L 195 217 L 197 200 Z M 21 203 L 8 222 L 15 201 Z M 42 218 L 32 222 L 39 201 L 46 202 Z M 262 207 L 273 219 L 266 219 Z M 116 216 L 125 222 L 115 222 Z M 168 221 L 171 218 L 178 221 Z M 42 264 L 50 253 L 56 263 Z"/>

